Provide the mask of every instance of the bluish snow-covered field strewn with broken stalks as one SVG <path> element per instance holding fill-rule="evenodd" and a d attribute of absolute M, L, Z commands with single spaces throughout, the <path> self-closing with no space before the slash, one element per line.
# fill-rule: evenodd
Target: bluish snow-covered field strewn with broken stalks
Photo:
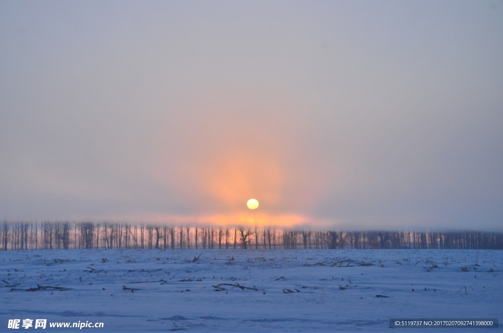
<path fill-rule="evenodd" d="M 503 319 L 502 251 L 7 251 L 0 277 L 0 331 L 26 318 L 103 322 L 82 328 L 102 332 L 406 331 L 389 318 Z"/>

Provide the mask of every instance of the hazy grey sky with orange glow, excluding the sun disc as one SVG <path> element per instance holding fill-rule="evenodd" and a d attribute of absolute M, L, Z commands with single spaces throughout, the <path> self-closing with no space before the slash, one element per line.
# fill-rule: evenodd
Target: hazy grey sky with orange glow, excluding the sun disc
<path fill-rule="evenodd" d="M 0 1 L 0 219 L 502 230 L 502 59 L 501 1 Z"/>

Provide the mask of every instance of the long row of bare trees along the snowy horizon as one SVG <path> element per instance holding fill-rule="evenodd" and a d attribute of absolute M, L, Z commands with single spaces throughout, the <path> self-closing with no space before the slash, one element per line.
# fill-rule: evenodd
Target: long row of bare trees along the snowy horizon
<path fill-rule="evenodd" d="M 503 249 L 502 232 L 336 231 L 116 222 L 2 222 L 0 248 Z"/>

